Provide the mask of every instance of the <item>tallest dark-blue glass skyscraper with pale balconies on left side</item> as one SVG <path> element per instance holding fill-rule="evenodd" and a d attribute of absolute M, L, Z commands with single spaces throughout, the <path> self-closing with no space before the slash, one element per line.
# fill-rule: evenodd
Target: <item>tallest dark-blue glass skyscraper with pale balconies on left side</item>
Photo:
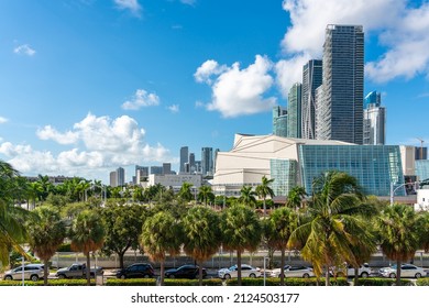
<path fill-rule="evenodd" d="M 363 143 L 363 61 L 362 25 L 329 24 L 323 44 L 323 95 L 317 107 L 317 139 Z"/>

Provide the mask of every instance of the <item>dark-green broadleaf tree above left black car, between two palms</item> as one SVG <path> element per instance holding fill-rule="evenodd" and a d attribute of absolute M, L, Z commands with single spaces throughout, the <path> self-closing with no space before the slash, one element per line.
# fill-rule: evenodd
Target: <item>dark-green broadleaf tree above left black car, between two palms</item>
<path fill-rule="evenodd" d="M 139 235 L 142 231 L 144 208 L 139 205 L 106 205 L 101 217 L 106 227 L 102 252 L 110 255 L 117 253 L 120 267 L 123 268 L 123 256 L 131 248 L 139 248 Z"/>

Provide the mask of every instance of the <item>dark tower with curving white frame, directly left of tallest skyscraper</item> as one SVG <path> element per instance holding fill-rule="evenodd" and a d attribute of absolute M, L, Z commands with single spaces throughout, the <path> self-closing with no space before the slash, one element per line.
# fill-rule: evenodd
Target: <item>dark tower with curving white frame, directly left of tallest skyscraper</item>
<path fill-rule="evenodd" d="M 316 89 L 322 84 L 322 61 L 310 59 L 302 67 L 301 136 L 316 139 Z"/>

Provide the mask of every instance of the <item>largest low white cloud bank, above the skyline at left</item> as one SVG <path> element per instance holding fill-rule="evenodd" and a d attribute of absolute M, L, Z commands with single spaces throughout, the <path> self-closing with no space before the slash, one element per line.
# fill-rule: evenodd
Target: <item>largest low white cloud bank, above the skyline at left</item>
<path fill-rule="evenodd" d="M 175 160 L 161 143 L 147 144 L 144 129 L 128 116 L 111 119 L 89 113 L 65 133 L 51 125 L 36 133 L 41 140 L 52 140 L 63 145 L 74 141 L 74 147 L 56 153 L 35 150 L 28 144 L 0 142 L 0 154 L 7 156 L 8 162 L 23 174 L 106 177 L 109 168 Z"/>

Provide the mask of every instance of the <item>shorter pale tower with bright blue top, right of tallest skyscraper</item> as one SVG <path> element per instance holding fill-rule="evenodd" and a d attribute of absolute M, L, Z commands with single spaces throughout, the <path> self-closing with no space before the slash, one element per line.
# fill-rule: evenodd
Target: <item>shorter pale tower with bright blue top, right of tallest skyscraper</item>
<path fill-rule="evenodd" d="M 386 143 L 386 108 L 382 107 L 381 94 L 372 91 L 365 97 L 363 110 L 363 144 Z"/>

